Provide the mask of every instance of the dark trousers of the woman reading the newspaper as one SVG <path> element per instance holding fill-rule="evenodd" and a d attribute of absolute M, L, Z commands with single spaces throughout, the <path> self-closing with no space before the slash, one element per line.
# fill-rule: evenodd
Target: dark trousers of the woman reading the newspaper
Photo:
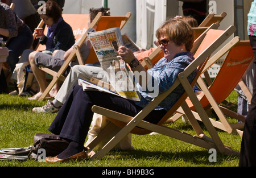
<path fill-rule="evenodd" d="M 115 96 L 114 94 L 84 91 L 81 86 L 76 85 L 48 130 L 53 134 L 60 135 L 62 138 L 84 144 L 93 118 L 93 105 L 105 107 L 130 116 L 135 116 L 143 109 L 132 101 Z M 165 110 L 153 110 L 144 121 L 158 123 L 164 114 L 166 114 Z"/>

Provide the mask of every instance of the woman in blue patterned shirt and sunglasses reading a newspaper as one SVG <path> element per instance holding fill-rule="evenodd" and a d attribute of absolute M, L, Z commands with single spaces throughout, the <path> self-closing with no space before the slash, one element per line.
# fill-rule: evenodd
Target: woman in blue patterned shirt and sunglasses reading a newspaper
<path fill-rule="evenodd" d="M 188 23 L 181 19 L 169 19 L 156 31 L 156 37 L 164 51 L 164 57 L 156 63 L 154 68 L 147 71 L 134 57 L 130 49 L 124 46 L 118 48 L 118 58 L 131 66 L 135 80 L 138 81 L 137 87 L 141 94 L 141 101 L 127 100 L 97 90 L 83 90 L 82 86 L 77 85 L 48 129 L 51 133 L 67 139 L 70 142 L 69 146 L 59 155 L 47 157 L 47 162 L 66 162 L 87 158 L 84 142 L 93 118 L 93 105 L 135 116 L 154 98 L 148 93 L 148 88 L 143 86 L 144 81 L 140 81 L 135 73 L 144 73 L 148 78 L 148 84 L 151 83 L 152 88 L 157 90 L 159 94 L 172 86 L 177 74 L 182 72 L 194 59 L 193 53 L 190 52 L 194 41 L 193 30 Z M 196 73 L 197 71 L 193 72 L 188 80 L 192 81 Z M 152 81 L 154 81 L 153 84 Z M 167 110 L 175 104 L 183 93 L 184 89 L 178 86 L 144 118 L 144 121 L 158 123 L 158 119 L 166 114 Z"/>

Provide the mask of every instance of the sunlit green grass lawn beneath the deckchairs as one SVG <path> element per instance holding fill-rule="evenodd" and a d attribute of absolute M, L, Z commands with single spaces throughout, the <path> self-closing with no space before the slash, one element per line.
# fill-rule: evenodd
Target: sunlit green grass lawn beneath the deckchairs
<path fill-rule="evenodd" d="M 228 101 L 237 103 L 237 94 Z M 48 127 L 56 114 L 35 114 L 32 108 L 46 101 L 0 94 L 0 148 L 27 147 L 36 133 L 49 133 Z M 236 110 L 236 108 L 234 108 Z M 231 122 L 236 122 L 230 119 Z M 168 125 L 195 135 L 191 126 L 179 119 Z M 222 142 L 240 151 L 241 136 L 217 130 Z M 207 135 L 207 131 L 205 131 Z M 111 151 L 101 160 L 49 164 L 35 160 L 0 160 L 0 167 L 237 167 L 238 156 L 217 154 L 217 162 L 210 163 L 208 150 L 163 135 L 133 135 L 131 151 Z"/>

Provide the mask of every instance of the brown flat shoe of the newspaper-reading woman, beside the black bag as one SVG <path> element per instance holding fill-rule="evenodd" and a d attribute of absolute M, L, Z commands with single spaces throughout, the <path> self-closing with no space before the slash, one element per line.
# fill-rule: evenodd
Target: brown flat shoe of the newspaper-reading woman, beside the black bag
<path fill-rule="evenodd" d="M 57 163 L 57 162 L 68 162 L 70 160 L 77 160 L 77 161 L 80 161 L 80 160 L 85 160 L 86 158 L 88 158 L 88 154 L 87 154 L 88 151 L 81 151 L 79 152 L 78 154 L 75 154 L 73 156 L 70 156 L 69 158 L 65 158 L 65 159 L 59 159 L 57 158 L 57 156 L 55 157 L 46 157 L 46 162 L 47 163 Z"/>

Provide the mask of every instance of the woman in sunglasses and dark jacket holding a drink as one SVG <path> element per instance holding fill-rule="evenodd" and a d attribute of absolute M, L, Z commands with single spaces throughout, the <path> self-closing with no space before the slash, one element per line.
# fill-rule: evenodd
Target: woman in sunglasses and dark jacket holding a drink
<path fill-rule="evenodd" d="M 39 14 L 39 12 L 42 13 L 44 9 L 46 13 Z M 48 27 L 47 35 L 43 35 L 43 37 L 39 40 L 40 44 L 46 45 L 46 50 L 42 52 L 52 55 L 53 51 L 55 51 L 56 49 L 62 49 L 63 51 L 67 51 L 69 48 L 71 48 L 72 45 L 75 43 L 75 36 L 73 35 L 72 27 L 63 20 L 62 11 L 59 5 L 57 5 L 55 1 L 47 1 L 46 4 L 39 7 L 38 14 L 40 15 L 40 18 L 43 20 L 44 24 L 46 24 L 46 26 Z M 35 35 L 37 38 L 38 34 L 36 32 Z M 26 49 L 22 53 L 22 56 L 20 56 L 18 63 L 27 63 L 28 56 L 31 52 L 33 52 L 32 49 Z M 37 52 L 42 53 L 39 51 L 35 51 L 35 53 Z M 31 67 L 33 67 L 32 69 L 36 71 L 36 69 L 38 68 L 33 65 L 34 63 L 31 64 Z M 19 69 L 17 69 L 16 71 L 23 72 L 23 70 Z M 34 72 L 34 74 L 36 74 L 36 72 Z M 14 81 L 17 80 L 17 76 L 20 75 L 14 72 L 12 76 Z M 34 90 L 36 91 L 36 89 Z M 37 96 L 35 96 L 34 98 L 37 98 Z"/>

